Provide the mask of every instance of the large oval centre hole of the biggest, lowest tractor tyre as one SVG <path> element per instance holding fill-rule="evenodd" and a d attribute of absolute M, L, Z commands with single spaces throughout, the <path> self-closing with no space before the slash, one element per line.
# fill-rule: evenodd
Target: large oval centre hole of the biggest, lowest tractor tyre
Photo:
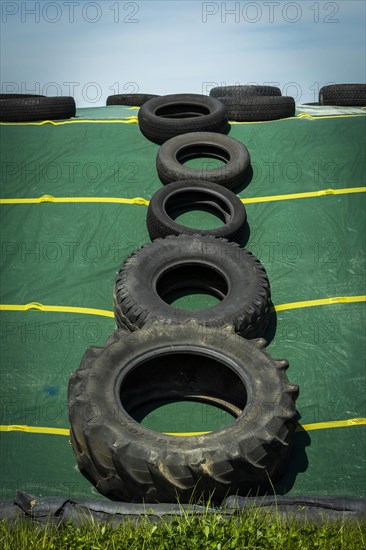
<path fill-rule="evenodd" d="M 205 432 L 231 424 L 247 403 L 242 380 L 221 361 L 180 352 L 154 356 L 123 380 L 127 413 L 158 432 Z"/>

